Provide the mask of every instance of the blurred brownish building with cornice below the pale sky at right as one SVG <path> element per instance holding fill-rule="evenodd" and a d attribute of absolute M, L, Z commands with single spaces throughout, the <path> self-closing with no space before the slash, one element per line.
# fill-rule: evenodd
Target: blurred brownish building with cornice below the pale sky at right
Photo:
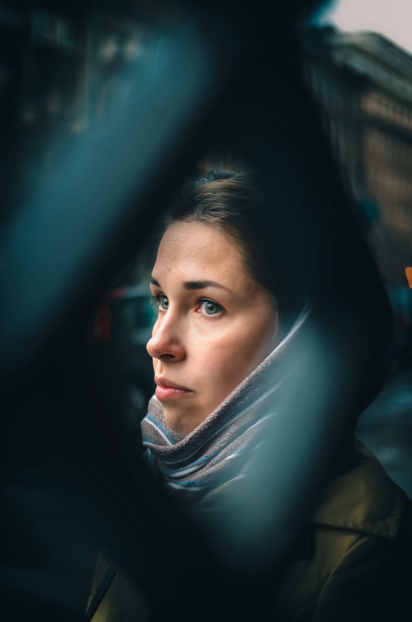
<path fill-rule="evenodd" d="M 352 188 L 357 218 L 395 313 L 393 348 L 410 355 L 412 56 L 375 32 L 301 34 L 302 67 Z"/>

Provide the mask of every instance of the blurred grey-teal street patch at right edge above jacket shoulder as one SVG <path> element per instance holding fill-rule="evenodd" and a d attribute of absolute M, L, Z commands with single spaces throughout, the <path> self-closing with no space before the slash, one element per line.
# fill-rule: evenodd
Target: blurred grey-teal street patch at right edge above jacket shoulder
<path fill-rule="evenodd" d="M 412 499 L 412 369 L 388 381 L 360 416 L 357 434 Z"/>

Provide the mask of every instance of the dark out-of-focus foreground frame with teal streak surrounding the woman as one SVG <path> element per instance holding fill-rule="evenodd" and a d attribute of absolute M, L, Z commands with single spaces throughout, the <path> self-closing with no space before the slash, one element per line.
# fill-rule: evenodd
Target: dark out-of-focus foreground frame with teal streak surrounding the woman
<path fill-rule="evenodd" d="M 7 620 L 82 620 L 101 547 L 150 620 L 263 615 L 330 453 L 383 384 L 391 310 L 302 81 L 295 24 L 305 7 L 279 6 L 275 24 L 263 4 L 252 12 L 241 2 L 0 4 Z M 268 197 L 276 187 L 279 205 L 293 206 L 268 211 L 266 228 L 296 284 L 305 282 L 319 334 L 344 353 L 339 383 L 325 379 L 334 422 L 317 420 L 328 450 L 308 453 L 311 485 L 295 495 L 289 522 L 273 516 L 273 564 L 255 575 L 226 563 L 138 460 L 149 315 L 139 289 L 118 295 L 117 310 L 102 303 L 130 284 L 136 249 L 204 154 L 228 152 L 260 170 Z M 146 269 L 142 259 L 134 282 Z M 408 374 L 358 423 L 384 465 L 382 437 L 392 452 L 410 449 Z M 385 409 L 401 434 L 383 433 Z M 391 470 L 390 455 L 388 472 L 411 494 L 406 462 Z M 275 457 L 274 471 L 289 473 L 295 458 Z M 299 474 L 290 476 L 299 490 Z"/>

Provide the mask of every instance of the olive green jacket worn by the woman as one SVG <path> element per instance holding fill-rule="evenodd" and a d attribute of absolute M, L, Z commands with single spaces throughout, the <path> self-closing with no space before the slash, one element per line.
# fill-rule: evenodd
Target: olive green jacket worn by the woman
<path fill-rule="evenodd" d="M 276 620 L 406 619 L 401 611 L 409 593 L 411 533 L 405 492 L 356 439 L 344 471 L 322 488 L 307 521 L 305 545 L 281 572 L 279 588 L 273 593 Z M 121 573 L 108 574 L 107 567 L 101 556 L 88 619 L 149 620 L 143 596 Z"/>

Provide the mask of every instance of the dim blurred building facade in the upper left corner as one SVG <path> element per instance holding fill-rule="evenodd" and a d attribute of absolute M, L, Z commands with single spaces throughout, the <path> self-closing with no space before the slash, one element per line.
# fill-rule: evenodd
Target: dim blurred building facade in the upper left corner
<path fill-rule="evenodd" d="M 130 1 L 0 0 L 2 174 L 19 200 L 85 132 L 104 131 L 156 36 Z M 13 185 L 12 180 L 16 179 Z"/>

